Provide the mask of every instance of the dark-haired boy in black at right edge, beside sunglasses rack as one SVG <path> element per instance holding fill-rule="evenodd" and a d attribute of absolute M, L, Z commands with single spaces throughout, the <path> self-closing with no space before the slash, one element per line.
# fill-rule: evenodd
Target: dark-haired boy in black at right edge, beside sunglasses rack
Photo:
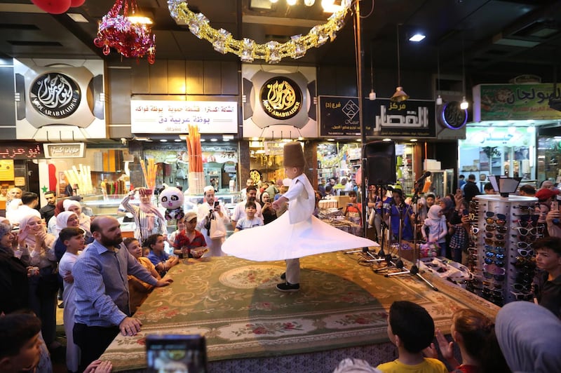
<path fill-rule="evenodd" d="M 540 270 L 534 277 L 534 301 L 561 318 L 561 238 L 540 238 L 533 247 Z"/>

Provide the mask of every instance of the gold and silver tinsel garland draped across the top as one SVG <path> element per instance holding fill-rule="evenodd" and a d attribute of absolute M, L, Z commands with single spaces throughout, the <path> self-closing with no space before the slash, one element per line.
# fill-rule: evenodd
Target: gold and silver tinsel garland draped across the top
<path fill-rule="evenodd" d="M 310 48 L 318 48 L 337 37 L 337 32 L 345 25 L 346 14 L 351 8 L 351 0 L 342 0 L 341 10 L 334 12 L 327 22 L 316 25 L 306 35 L 294 35 L 286 43 L 269 41 L 264 44 L 255 43 L 255 40 L 243 38 L 234 39 L 225 29 L 214 29 L 209 25 L 208 18 L 203 13 L 193 13 L 187 8 L 187 1 L 168 0 L 170 15 L 176 22 L 189 25 L 189 31 L 212 44 L 219 53 L 234 53 L 242 62 L 265 60 L 269 64 L 276 64 L 284 57 L 294 59 L 304 57 Z"/>

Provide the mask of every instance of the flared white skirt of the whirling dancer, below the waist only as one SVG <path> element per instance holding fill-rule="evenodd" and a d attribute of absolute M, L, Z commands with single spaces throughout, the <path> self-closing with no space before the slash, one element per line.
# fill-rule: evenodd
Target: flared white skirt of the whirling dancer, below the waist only
<path fill-rule="evenodd" d="M 222 251 L 234 257 L 266 262 L 370 246 L 378 244 L 313 216 L 290 224 L 288 212 L 285 212 L 269 224 L 232 234 L 222 244 Z"/>

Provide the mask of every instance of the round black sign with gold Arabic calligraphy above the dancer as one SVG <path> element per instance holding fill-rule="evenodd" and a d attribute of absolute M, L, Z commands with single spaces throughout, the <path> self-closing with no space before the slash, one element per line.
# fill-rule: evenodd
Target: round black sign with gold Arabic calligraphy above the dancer
<path fill-rule="evenodd" d="M 284 76 L 266 81 L 259 99 L 266 114 L 275 119 L 290 119 L 302 109 L 302 90 L 295 81 Z"/>

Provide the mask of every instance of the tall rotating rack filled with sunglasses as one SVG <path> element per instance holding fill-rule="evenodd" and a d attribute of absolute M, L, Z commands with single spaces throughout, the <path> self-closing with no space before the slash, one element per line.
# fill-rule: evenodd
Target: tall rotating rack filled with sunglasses
<path fill-rule="evenodd" d="M 525 196 L 475 197 L 477 226 L 473 227 L 477 265 L 473 291 L 503 306 L 511 301 L 531 301 L 535 257 L 532 242 L 538 238 L 534 223 L 536 198 Z M 533 263 L 533 264 L 532 264 Z"/>

